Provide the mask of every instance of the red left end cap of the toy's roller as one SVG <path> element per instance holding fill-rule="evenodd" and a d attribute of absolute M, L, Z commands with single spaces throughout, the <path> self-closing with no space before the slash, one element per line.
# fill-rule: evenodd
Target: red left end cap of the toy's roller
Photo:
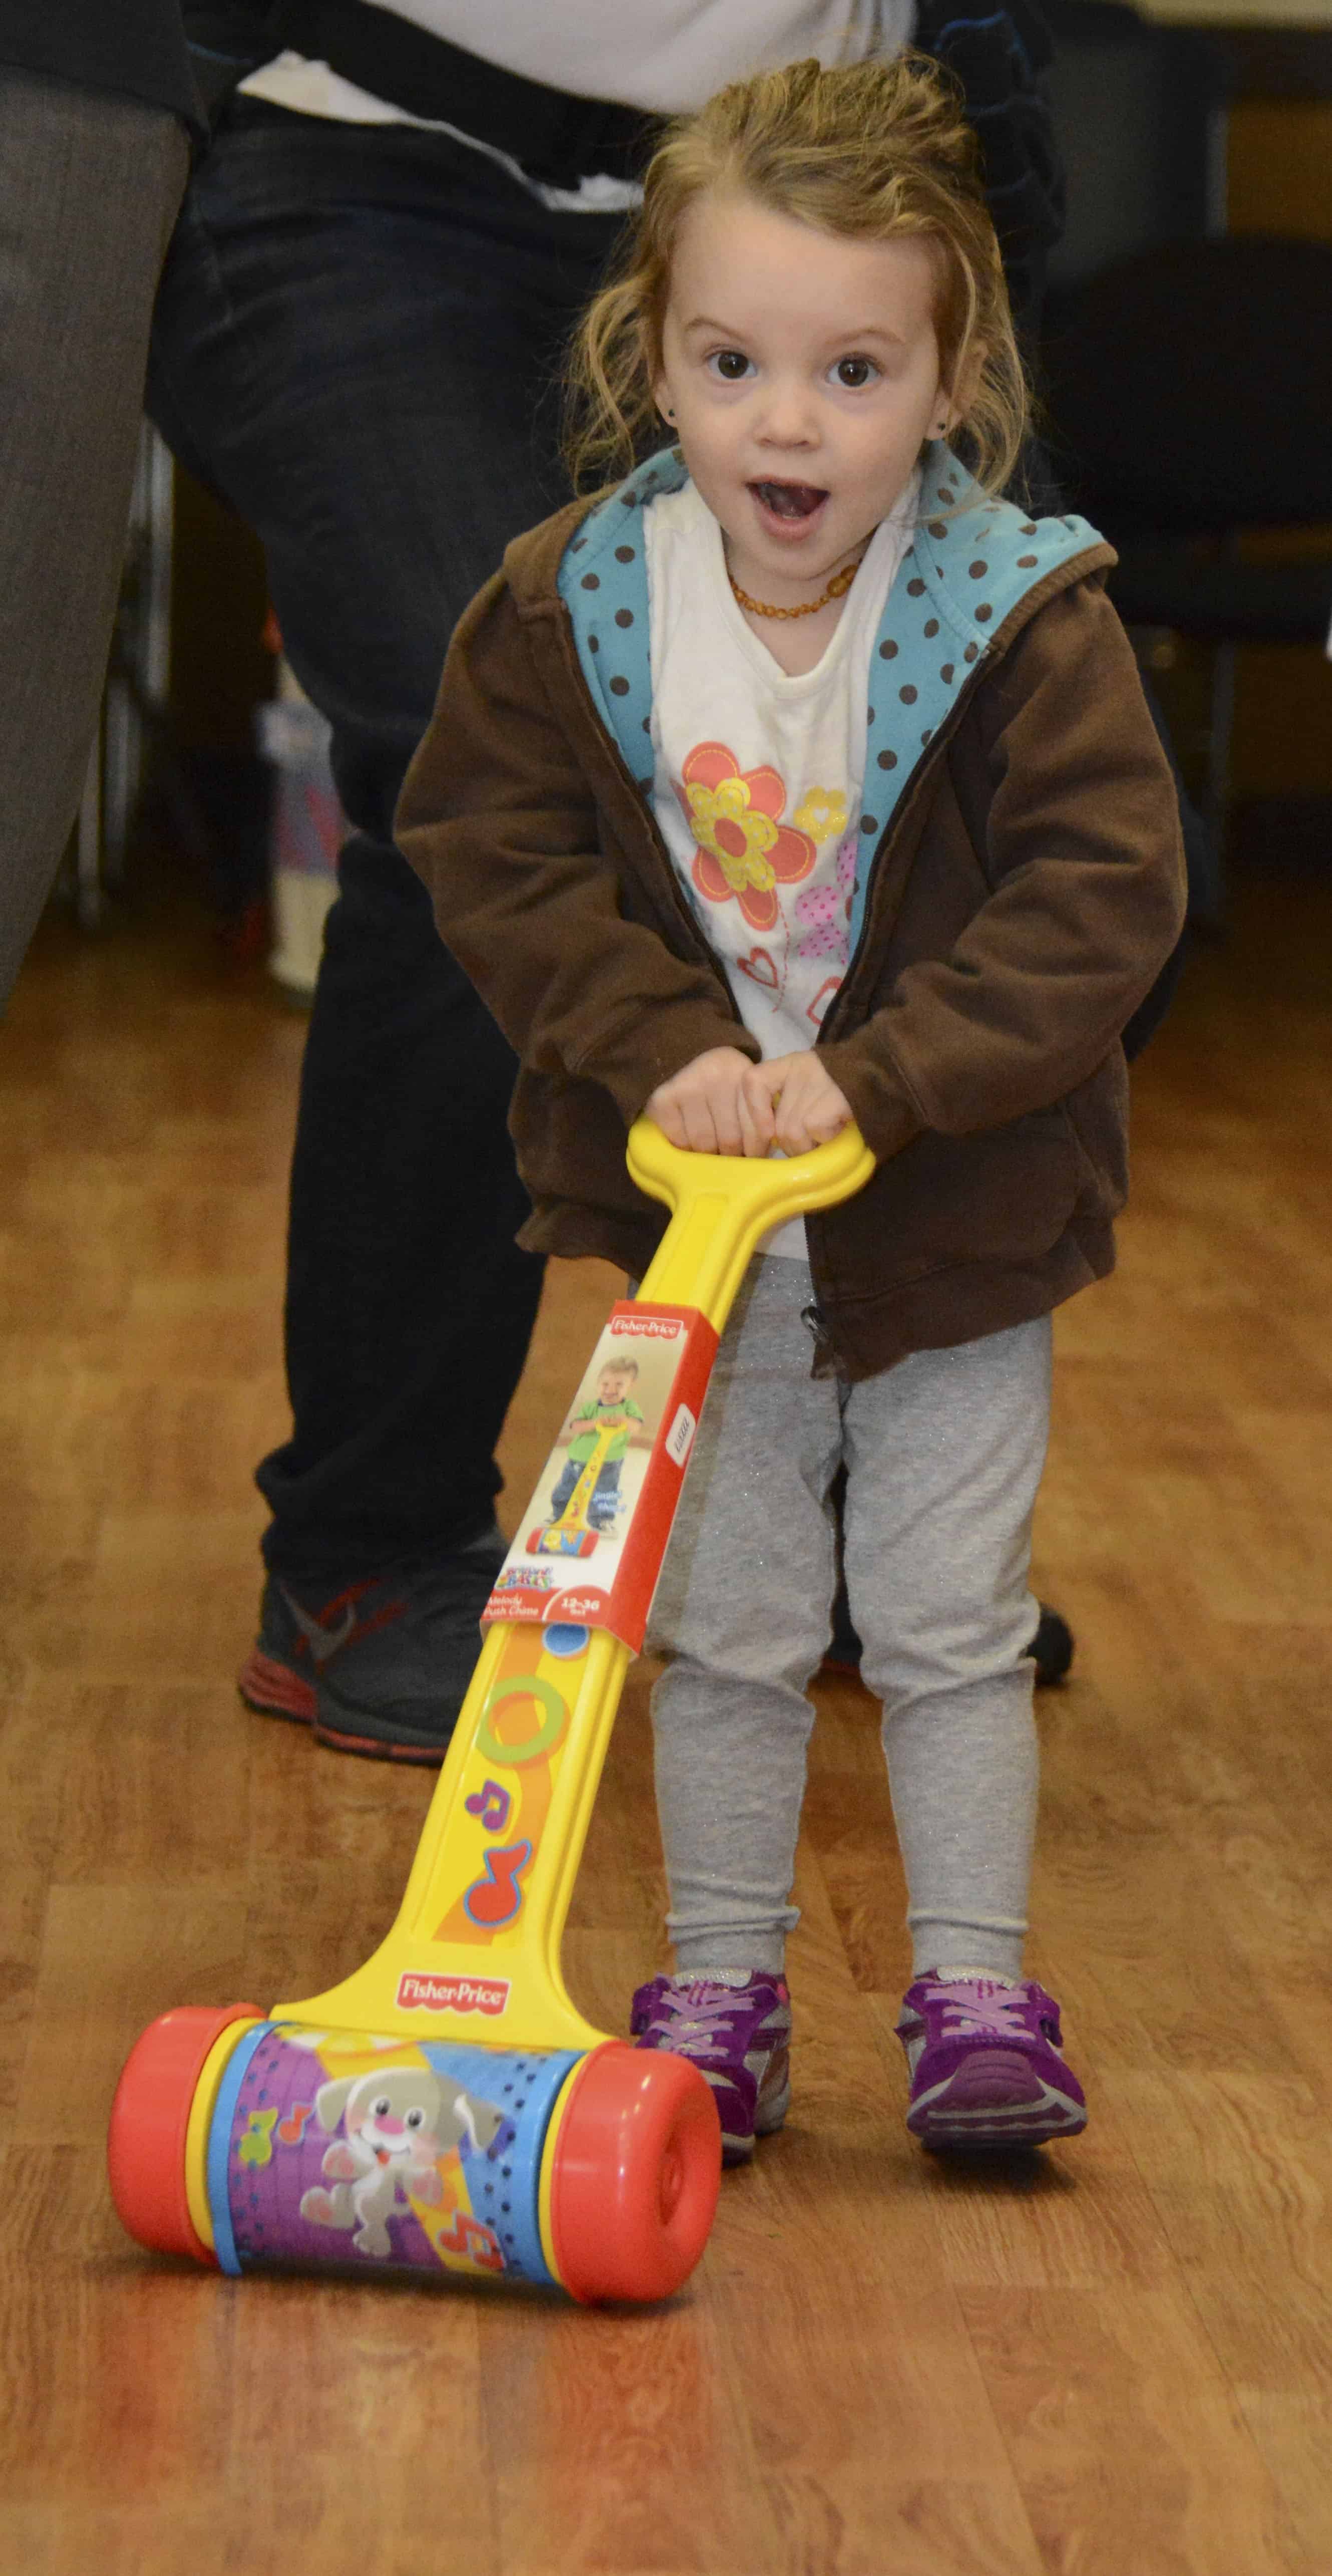
<path fill-rule="evenodd" d="M 258 2004 L 180 2004 L 149 2022 L 124 2061 L 106 2164 L 121 2226 L 155 2254 L 214 2264 L 186 2197 L 186 2130 L 198 2076 L 229 2022 L 263 2020 Z"/>

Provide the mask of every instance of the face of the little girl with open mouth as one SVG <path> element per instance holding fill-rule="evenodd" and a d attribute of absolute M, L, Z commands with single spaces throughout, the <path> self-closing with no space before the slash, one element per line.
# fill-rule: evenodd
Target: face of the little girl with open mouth
<path fill-rule="evenodd" d="M 951 422 L 925 242 L 814 232 L 703 196 L 675 234 L 654 394 L 742 590 L 799 605 Z"/>

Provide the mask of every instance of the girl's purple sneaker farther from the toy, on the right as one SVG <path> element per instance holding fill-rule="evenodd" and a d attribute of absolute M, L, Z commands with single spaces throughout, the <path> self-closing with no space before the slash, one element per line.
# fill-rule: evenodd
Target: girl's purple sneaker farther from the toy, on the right
<path fill-rule="evenodd" d="M 907 2128 L 925 2146 L 1043 2146 L 1087 2128 L 1082 2084 L 1059 2053 L 1059 2004 L 1043 1986 L 920 1976 L 897 2038 L 912 2071 Z"/>

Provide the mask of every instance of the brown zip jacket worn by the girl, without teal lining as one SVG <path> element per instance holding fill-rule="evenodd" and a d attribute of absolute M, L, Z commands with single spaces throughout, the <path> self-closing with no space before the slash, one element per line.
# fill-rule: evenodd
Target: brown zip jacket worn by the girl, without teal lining
<path fill-rule="evenodd" d="M 520 536 L 461 618 L 397 837 L 520 1059 L 520 1242 L 642 1275 L 665 1211 L 629 1180 L 626 1128 L 693 1056 L 757 1041 L 580 667 L 557 577 L 587 507 Z M 1000 1332 L 1113 1267 L 1118 1038 L 1185 876 L 1116 556 L 1090 538 L 982 634 L 876 850 L 817 1041 L 879 1157 L 809 1218 L 819 1373 Z"/>

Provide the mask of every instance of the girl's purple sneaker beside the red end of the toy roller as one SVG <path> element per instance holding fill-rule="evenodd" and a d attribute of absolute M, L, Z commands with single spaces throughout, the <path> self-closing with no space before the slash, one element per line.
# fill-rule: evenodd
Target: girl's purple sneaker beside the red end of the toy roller
<path fill-rule="evenodd" d="M 629 2030 L 639 2048 L 670 2048 L 709 2079 L 721 2117 L 721 2164 L 747 2164 L 755 2138 L 786 2120 L 791 1994 L 783 1976 L 755 1968 L 742 1986 L 654 1976 L 634 1996 Z"/>

